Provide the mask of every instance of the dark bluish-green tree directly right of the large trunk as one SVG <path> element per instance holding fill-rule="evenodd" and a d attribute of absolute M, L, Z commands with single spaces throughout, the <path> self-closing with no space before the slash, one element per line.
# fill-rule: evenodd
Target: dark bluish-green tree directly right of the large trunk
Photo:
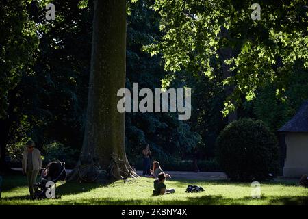
<path fill-rule="evenodd" d="M 127 16 L 127 79 L 126 88 L 133 82 L 139 88 L 161 88 L 168 72 L 162 66 L 161 57 L 151 57 L 142 51 L 144 44 L 159 40 L 159 14 L 151 10 L 153 1 L 139 0 L 130 3 Z M 174 88 L 183 88 L 177 83 Z M 177 119 L 175 113 L 126 113 L 125 146 L 129 161 L 142 168 L 142 149 L 149 143 L 153 159 L 165 167 L 175 166 L 181 159 L 188 159 L 194 146 L 202 146 L 201 136 L 192 131 L 189 121 Z"/>

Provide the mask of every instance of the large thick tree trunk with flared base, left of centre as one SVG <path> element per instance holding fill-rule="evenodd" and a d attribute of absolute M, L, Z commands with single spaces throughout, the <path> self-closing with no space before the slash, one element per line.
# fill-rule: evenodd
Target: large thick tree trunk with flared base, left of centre
<path fill-rule="evenodd" d="M 116 107 L 118 89 L 125 88 L 125 68 L 125 0 L 94 1 L 88 109 L 81 156 L 99 158 L 99 164 L 107 170 L 111 154 L 115 153 L 125 161 L 130 175 L 136 176 L 125 153 L 124 113 Z M 70 179 L 77 179 L 79 164 Z"/>

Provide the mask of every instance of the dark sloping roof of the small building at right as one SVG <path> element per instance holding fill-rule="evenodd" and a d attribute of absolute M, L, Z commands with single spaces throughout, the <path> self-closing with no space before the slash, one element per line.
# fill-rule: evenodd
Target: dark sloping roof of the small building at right
<path fill-rule="evenodd" d="M 300 106 L 298 112 L 289 120 L 279 132 L 308 132 L 308 101 Z"/>

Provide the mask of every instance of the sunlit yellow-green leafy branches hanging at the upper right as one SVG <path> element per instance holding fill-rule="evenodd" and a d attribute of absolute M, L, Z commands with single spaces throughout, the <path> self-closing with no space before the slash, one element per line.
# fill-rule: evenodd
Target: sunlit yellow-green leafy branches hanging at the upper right
<path fill-rule="evenodd" d="M 255 98 L 257 89 L 270 81 L 277 96 L 285 90 L 294 62 L 308 67 L 307 5 L 303 1 L 259 1 L 261 20 L 251 19 L 253 1 L 155 1 L 162 17 L 162 40 L 146 47 L 162 53 L 166 70 L 189 66 L 193 75 L 216 77 L 211 60 L 231 66 L 224 85 L 234 90 L 224 101 L 224 115 Z M 222 31 L 227 29 L 227 34 Z M 232 49 L 221 60 L 218 51 Z M 223 69 L 222 69 L 223 70 Z M 243 96 L 242 96 L 243 95 Z"/>

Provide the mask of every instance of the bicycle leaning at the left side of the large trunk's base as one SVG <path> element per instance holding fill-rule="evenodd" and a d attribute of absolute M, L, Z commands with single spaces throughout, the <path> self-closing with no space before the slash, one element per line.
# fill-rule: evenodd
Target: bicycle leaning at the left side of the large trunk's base
<path fill-rule="evenodd" d="M 87 183 L 92 183 L 97 180 L 99 175 L 105 175 L 108 177 L 108 172 L 106 170 L 103 170 L 101 166 L 99 165 L 99 158 L 93 157 L 90 160 L 90 164 L 81 164 L 79 167 L 79 178 L 82 181 L 85 181 Z"/>

